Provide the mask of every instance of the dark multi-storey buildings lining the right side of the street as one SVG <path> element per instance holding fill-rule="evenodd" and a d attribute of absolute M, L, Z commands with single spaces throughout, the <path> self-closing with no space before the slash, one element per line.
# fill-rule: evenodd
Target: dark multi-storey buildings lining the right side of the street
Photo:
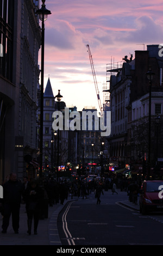
<path fill-rule="evenodd" d="M 124 58 L 125 62 L 117 69 L 108 70 L 116 72 L 116 75 L 110 76 L 110 162 L 120 168 L 126 167 L 126 164 L 136 168 L 136 165 L 142 166 L 143 159 L 148 160 L 149 65 L 155 74 L 152 81 L 151 120 L 154 121 L 159 115 L 162 122 L 163 60 L 158 52 L 158 45 L 148 45 L 147 51 L 135 51 L 135 59 Z M 146 135 L 143 133 L 145 130 Z M 151 124 L 151 130 L 152 136 L 154 124 Z M 140 140 L 142 134 L 143 143 Z M 156 144 L 154 140 L 152 143 Z M 159 143 L 162 147 L 162 142 Z M 153 149 L 151 148 L 152 161 L 155 159 Z M 161 153 L 159 154 L 161 157 Z"/>

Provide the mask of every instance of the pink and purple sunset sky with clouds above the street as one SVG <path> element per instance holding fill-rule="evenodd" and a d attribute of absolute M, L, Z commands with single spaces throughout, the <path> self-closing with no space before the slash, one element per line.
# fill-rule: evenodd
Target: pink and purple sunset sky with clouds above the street
<path fill-rule="evenodd" d="M 41 3 L 41 1 L 40 1 Z M 163 1 L 46 0 L 44 89 L 50 78 L 54 96 L 67 107 L 99 111 L 89 45 L 103 104 L 106 66 L 135 57 L 136 50 L 163 43 Z M 40 23 L 41 26 L 41 23 Z M 41 66 L 41 50 L 39 52 Z"/>

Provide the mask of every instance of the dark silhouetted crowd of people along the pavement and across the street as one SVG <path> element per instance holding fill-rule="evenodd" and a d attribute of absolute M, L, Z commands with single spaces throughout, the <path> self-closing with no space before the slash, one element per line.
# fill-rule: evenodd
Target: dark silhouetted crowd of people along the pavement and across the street
<path fill-rule="evenodd" d="M 127 182 L 126 182 L 127 181 Z M 41 186 L 37 180 L 28 180 L 23 178 L 23 182 L 17 179 L 16 173 L 11 173 L 6 177 L 3 184 L 3 199 L 0 199 L 0 212 L 3 216 L 2 233 L 7 233 L 10 216 L 12 215 L 12 228 L 15 234 L 18 233 L 20 206 L 21 203 L 26 204 L 27 212 L 27 227 L 28 234 L 31 234 L 32 222 L 34 222 L 34 234 L 37 234 L 37 226 L 39 223 L 40 212 L 43 205 L 43 200 L 47 198 L 48 206 L 52 207 L 54 204 L 64 204 L 68 195 L 75 197 L 82 197 L 86 199 L 89 194 L 95 194 L 97 204 L 101 203 L 100 197 L 103 190 L 108 191 L 110 188 L 112 194 L 117 194 L 117 180 L 105 179 L 78 179 L 68 181 L 62 179 L 59 182 L 53 178 L 44 179 Z M 126 191 L 130 202 L 137 204 L 137 194 L 139 193 L 140 184 L 133 180 L 121 180 L 121 191 Z"/>

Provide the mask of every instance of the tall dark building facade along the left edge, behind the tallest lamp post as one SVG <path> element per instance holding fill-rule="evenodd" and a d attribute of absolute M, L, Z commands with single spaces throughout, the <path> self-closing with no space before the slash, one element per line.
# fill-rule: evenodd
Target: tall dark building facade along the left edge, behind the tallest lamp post
<path fill-rule="evenodd" d="M 26 175 L 36 158 L 36 97 L 41 29 L 32 0 L 0 1 L 0 180 Z"/>

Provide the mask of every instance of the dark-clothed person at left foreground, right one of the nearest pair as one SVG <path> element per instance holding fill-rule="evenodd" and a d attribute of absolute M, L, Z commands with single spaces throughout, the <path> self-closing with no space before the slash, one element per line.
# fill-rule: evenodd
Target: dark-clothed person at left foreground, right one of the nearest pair
<path fill-rule="evenodd" d="M 32 220 L 34 218 L 34 234 L 37 234 L 37 226 L 39 223 L 41 202 L 43 201 L 43 190 L 37 185 L 37 181 L 30 181 L 29 187 L 24 192 L 24 200 L 26 201 L 28 234 L 31 234 Z"/>

